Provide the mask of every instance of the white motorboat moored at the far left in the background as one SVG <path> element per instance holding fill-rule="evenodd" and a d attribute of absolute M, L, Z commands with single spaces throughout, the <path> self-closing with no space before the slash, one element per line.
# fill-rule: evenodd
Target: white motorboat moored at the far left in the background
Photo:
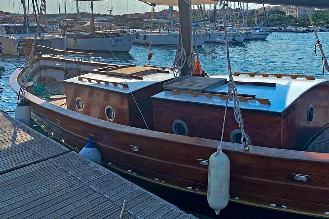
<path fill-rule="evenodd" d="M 29 24 L 30 33 L 26 31 L 23 24 L 0 24 L 0 45 L 7 55 L 19 55 L 21 44 L 24 40 L 30 38 L 34 40 L 37 25 Z M 53 49 L 66 50 L 66 38 L 60 35 L 46 33 L 40 26 L 36 45 L 50 47 Z"/>

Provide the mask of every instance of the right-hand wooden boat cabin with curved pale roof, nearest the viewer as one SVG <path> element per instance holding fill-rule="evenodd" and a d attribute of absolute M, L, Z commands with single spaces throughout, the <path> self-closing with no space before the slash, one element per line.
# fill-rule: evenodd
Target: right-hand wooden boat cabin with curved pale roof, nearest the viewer
<path fill-rule="evenodd" d="M 301 150 L 329 123 L 329 82 L 277 76 L 234 74 L 244 130 L 252 145 Z M 164 91 L 152 96 L 154 130 L 220 140 L 227 83 L 225 75 L 166 82 Z M 232 108 L 229 100 L 224 141 L 241 143 Z"/>

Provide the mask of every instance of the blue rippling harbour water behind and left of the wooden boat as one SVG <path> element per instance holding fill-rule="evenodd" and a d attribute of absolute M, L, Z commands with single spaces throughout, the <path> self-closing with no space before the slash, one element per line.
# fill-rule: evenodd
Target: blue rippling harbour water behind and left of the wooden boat
<path fill-rule="evenodd" d="M 323 49 L 329 59 L 329 33 L 318 33 Z M 272 33 L 267 40 L 247 41 L 245 45 L 230 45 L 232 72 L 262 72 L 314 75 L 323 78 L 320 51 L 314 54 L 316 43 L 314 33 Z M 153 47 L 151 65 L 171 66 L 176 47 Z M 225 45 L 207 43 L 198 48 L 202 68 L 213 75 L 227 74 Z M 55 56 L 54 54 L 51 54 Z M 68 55 L 86 61 L 107 62 L 120 65 L 148 64 L 146 45 L 134 45 L 130 53 L 95 53 L 90 55 Z M 6 55 L 0 56 L 0 109 L 11 110 L 16 106 L 17 96 L 8 86 L 9 75 L 6 71 L 21 66 L 24 59 Z M 16 65 L 16 66 L 15 66 Z M 3 72 L 4 71 L 4 72 Z M 329 74 L 325 73 L 329 79 Z M 13 115 L 13 113 L 10 113 Z"/>

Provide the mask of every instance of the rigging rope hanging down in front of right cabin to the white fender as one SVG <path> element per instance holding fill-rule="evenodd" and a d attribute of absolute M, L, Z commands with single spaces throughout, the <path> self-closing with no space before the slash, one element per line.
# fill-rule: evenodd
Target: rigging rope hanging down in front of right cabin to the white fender
<path fill-rule="evenodd" d="M 229 73 L 227 99 L 230 99 L 230 101 L 233 101 L 234 118 L 238 122 L 240 130 L 241 130 L 241 134 L 242 134 L 241 143 L 244 144 L 244 149 L 245 150 L 249 150 L 249 146 L 248 146 L 249 140 L 246 137 L 246 134 L 244 132 L 243 117 L 242 117 L 240 104 L 239 104 L 237 86 L 234 82 L 234 79 L 233 79 L 233 76 L 232 76 L 232 71 L 231 71 L 231 62 L 230 62 L 230 54 L 229 54 L 229 42 L 228 42 L 228 37 L 227 37 L 226 10 L 225 10 L 225 4 L 224 4 L 223 0 L 220 0 L 220 7 L 221 7 L 221 12 L 222 12 L 222 17 L 223 17 L 223 24 L 224 24 L 225 46 L 226 46 L 226 55 L 227 55 L 227 67 L 228 67 L 228 73 Z M 224 135 L 225 119 L 226 119 L 227 103 L 228 103 L 228 100 L 226 102 L 226 107 L 225 107 L 225 112 L 224 112 L 225 114 L 224 114 L 224 122 L 223 122 L 221 142 L 220 142 L 220 146 L 218 146 L 217 151 L 220 150 L 221 145 L 222 145 L 222 140 L 223 140 L 223 135 Z"/>

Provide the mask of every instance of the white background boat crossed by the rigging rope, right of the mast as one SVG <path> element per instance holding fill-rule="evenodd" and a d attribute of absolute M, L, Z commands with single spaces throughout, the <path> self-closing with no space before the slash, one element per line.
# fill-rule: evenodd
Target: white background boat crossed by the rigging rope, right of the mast
<path fill-rule="evenodd" d="M 228 40 L 229 41 L 237 41 L 242 43 L 246 37 L 246 33 L 239 32 L 237 29 L 228 27 Z M 225 39 L 224 31 L 222 30 L 208 30 L 208 35 L 205 39 L 205 42 L 215 42 L 216 39 Z"/>

